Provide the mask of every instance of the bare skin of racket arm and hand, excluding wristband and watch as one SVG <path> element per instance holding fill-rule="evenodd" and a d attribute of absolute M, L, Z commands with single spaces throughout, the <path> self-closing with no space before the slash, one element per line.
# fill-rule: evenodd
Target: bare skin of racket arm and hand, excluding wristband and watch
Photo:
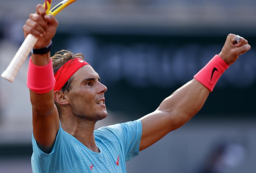
<path fill-rule="evenodd" d="M 53 16 L 45 15 L 43 5 L 36 7 L 36 13 L 30 14 L 29 19 L 23 26 L 24 36 L 33 34 L 39 37 L 34 48 L 47 47 L 58 26 Z M 50 53 L 32 54 L 32 63 L 35 66 L 46 66 L 50 62 Z M 28 75 L 29 77 L 29 75 Z M 38 76 L 40 78 L 41 76 Z M 44 83 L 44 81 L 41 81 Z M 33 134 L 41 150 L 49 153 L 52 150 L 56 134 L 60 127 L 57 107 L 54 105 L 53 89 L 46 93 L 36 93 L 30 90 L 30 100 L 33 114 Z"/>

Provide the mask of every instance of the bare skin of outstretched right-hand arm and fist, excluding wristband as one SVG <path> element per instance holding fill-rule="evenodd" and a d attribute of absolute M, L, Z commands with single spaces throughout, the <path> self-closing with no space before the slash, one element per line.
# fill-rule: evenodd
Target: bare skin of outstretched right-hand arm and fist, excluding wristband
<path fill-rule="evenodd" d="M 240 54 L 251 48 L 247 40 L 242 38 L 236 43 L 236 38 L 236 35 L 229 34 L 219 54 L 228 65 L 234 63 Z M 209 88 L 192 79 L 165 98 L 156 111 L 142 117 L 140 151 L 188 122 L 202 108 L 209 93 Z"/>

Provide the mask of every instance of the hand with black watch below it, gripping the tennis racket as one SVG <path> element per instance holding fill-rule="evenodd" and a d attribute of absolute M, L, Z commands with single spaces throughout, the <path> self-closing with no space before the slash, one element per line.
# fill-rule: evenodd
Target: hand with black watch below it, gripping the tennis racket
<path fill-rule="evenodd" d="M 47 47 L 56 33 L 58 21 L 52 15 L 46 15 L 44 6 L 38 4 L 36 13 L 30 14 L 26 24 L 23 26 L 25 38 L 28 34 L 39 37 L 34 48 Z"/>

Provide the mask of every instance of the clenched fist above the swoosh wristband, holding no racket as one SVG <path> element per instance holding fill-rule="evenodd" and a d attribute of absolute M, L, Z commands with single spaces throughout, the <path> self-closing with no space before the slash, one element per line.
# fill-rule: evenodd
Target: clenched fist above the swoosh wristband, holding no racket
<path fill-rule="evenodd" d="M 251 46 L 248 44 L 248 41 L 244 38 L 237 43 L 237 35 L 228 34 L 227 40 L 219 54 L 219 56 L 228 64 L 233 64 L 240 54 L 244 54 L 251 49 Z"/>

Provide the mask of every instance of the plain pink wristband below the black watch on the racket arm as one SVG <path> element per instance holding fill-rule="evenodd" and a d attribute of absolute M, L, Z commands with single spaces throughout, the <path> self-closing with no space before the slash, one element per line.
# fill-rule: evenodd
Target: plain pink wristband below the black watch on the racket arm
<path fill-rule="evenodd" d="M 28 64 L 27 86 L 30 90 L 43 94 L 53 89 L 55 78 L 52 68 L 52 59 L 46 66 L 36 66 L 31 57 Z"/>

